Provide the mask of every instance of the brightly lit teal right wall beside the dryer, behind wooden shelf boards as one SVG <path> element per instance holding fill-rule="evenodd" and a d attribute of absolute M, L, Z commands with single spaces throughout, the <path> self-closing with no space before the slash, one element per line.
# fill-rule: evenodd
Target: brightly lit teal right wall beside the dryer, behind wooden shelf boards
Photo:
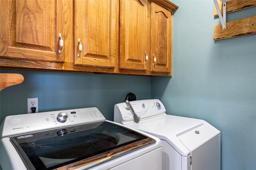
<path fill-rule="evenodd" d="M 172 78 L 152 77 L 151 98 L 170 115 L 204 119 L 222 133 L 222 170 L 256 167 L 256 35 L 213 40 L 212 0 L 177 0 Z M 256 16 L 256 7 L 227 21 Z M 254 23 L 255 24 L 255 23 Z M 210 155 L 210 153 L 209 153 Z"/>

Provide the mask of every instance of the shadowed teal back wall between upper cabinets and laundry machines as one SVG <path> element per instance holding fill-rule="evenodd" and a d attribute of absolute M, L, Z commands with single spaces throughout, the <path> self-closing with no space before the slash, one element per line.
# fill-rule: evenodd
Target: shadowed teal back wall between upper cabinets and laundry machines
<path fill-rule="evenodd" d="M 24 82 L 0 92 L 0 121 L 7 115 L 27 113 L 27 98 L 38 98 L 39 112 L 98 107 L 113 121 L 114 105 L 129 92 L 138 100 L 150 98 L 150 77 L 1 70 L 19 73 Z"/>

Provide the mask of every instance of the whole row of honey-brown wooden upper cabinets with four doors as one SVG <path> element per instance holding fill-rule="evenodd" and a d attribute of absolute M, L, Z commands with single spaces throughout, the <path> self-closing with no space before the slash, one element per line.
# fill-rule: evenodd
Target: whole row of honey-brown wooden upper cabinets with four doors
<path fill-rule="evenodd" d="M 169 0 L 0 0 L 0 66 L 170 76 L 177 8 Z"/>

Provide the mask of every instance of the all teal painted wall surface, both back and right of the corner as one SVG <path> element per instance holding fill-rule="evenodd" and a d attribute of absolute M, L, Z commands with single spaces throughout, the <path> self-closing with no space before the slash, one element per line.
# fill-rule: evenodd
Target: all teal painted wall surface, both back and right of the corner
<path fill-rule="evenodd" d="M 114 104 L 128 92 L 138 100 L 158 98 L 171 115 L 204 119 L 222 133 L 222 170 L 256 167 L 256 35 L 213 41 L 212 0 L 172 1 L 173 76 L 143 77 L 1 70 L 20 73 L 22 84 L 0 92 L 0 121 L 27 112 L 27 98 L 39 111 L 97 106 L 113 120 Z M 227 15 L 238 20 L 256 7 Z M 151 86 L 150 86 L 151 83 Z M 210 154 L 210 153 L 209 153 Z"/>

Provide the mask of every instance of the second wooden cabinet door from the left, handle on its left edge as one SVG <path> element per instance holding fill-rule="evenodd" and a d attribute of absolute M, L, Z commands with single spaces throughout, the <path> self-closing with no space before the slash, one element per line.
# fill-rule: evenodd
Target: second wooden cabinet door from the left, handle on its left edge
<path fill-rule="evenodd" d="M 118 53 L 118 1 L 76 0 L 75 8 L 75 64 L 115 67 Z M 78 39 L 82 44 L 81 53 Z"/>

